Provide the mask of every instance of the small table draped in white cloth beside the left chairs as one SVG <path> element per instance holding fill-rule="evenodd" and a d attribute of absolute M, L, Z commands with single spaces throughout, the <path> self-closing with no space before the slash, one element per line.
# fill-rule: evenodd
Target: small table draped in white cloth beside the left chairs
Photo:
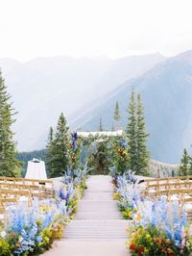
<path fill-rule="evenodd" d="M 47 173 L 45 170 L 44 161 L 40 161 L 35 158 L 32 161 L 29 161 L 25 178 L 26 179 L 46 180 Z"/>

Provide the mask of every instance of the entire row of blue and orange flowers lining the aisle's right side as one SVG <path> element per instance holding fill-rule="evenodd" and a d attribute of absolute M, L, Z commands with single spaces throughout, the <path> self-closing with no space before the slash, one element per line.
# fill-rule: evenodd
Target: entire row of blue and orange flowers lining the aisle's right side
<path fill-rule="evenodd" d="M 192 255 L 192 232 L 179 201 L 141 198 L 131 172 L 113 179 L 119 209 L 124 218 L 132 219 L 127 229 L 132 256 Z"/>

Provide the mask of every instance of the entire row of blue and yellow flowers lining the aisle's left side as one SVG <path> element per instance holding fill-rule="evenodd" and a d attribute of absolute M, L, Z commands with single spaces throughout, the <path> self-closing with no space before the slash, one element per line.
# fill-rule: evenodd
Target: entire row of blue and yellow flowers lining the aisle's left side
<path fill-rule="evenodd" d="M 39 255 L 60 239 L 64 225 L 77 211 L 77 202 L 84 194 L 87 167 L 67 171 L 56 198 L 7 207 L 4 223 L 0 224 L 0 255 Z"/>

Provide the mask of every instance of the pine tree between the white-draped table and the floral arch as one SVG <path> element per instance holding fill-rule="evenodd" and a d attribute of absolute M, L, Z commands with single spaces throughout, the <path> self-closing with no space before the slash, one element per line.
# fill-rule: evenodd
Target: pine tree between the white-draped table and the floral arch
<path fill-rule="evenodd" d="M 61 113 L 54 140 L 51 142 L 50 177 L 60 177 L 70 167 L 70 142 L 66 119 Z"/>

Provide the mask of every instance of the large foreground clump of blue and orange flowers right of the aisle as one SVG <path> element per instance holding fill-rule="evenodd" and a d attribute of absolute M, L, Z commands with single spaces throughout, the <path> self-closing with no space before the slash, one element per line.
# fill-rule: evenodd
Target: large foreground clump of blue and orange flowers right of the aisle
<path fill-rule="evenodd" d="M 127 244 L 132 256 L 189 256 L 192 252 L 192 234 L 186 213 L 180 215 L 177 201 L 169 203 L 164 198 L 155 202 L 140 201 L 129 234 Z"/>

